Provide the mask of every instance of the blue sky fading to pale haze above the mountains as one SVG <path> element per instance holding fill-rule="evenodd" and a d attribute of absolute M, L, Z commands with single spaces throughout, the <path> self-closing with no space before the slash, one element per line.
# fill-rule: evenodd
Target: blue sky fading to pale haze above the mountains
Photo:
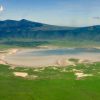
<path fill-rule="evenodd" d="M 60 26 L 100 25 L 100 0 L 0 0 L 0 20 Z"/>

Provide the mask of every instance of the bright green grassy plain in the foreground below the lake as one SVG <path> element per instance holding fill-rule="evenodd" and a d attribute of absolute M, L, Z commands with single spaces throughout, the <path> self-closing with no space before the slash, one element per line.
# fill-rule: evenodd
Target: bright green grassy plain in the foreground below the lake
<path fill-rule="evenodd" d="M 77 78 L 76 72 L 92 76 Z M 47 68 L 0 65 L 0 100 L 100 100 L 100 63 Z"/>

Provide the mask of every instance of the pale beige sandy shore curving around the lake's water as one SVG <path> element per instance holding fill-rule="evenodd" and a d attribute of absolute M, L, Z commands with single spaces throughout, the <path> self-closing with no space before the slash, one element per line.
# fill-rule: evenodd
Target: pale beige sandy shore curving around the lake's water
<path fill-rule="evenodd" d="M 27 59 L 24 60 L 24 64 L 19 64 L 18 61 L 8 61 L 6 60 L 6 57 L 9 57 L 11 55 L 15 55 L 18 52 L 27 52 L 27 51 L 40 51 L 40 50 L 52 50 L 52 49 L 57 49 L 57 48 L 12 48 L 6 51 L 6 53 L 1 53 L 0 54 L 0 64 L 8 64 L 10 66 L 14 66 L 14 67 L 33 67 L 33 68 L 38 68 L 38 67 L 48 67 L 48 66 L 69 66 L 69 65 L 74 65 L 75 63 L 73 63 L 72 61 L 69 61 L 69 59 L 73 58 L 73 59 L 79 59 L 79 63 L 83 63 L 83 62 L 88 62 L 88 63 L 92 63 L 92 62 L 99 62 L 99 59 L 95 59 L 92 58 L 92 56 L 90 55 L 79 55 L 77 57 L 72 57 L 72 56 L 66 56 L 66 55 L 53 55 L 53 56 L 35 56 L 32 58 L 28 58 L 30 61 L 28 63 L 26 63 Z M 67 48 L 67 49 L 75 49 L 75 48 Z M 97 49 L 97 48 L 96 48 Z M 21 59 L 21 58 L 20 58 Z M 19 60 L 20 60 L 19 59 Z M 21 60 L 20 60 L 21 61 Z M 23 61 L 21 61 L 23 62 Z"/>

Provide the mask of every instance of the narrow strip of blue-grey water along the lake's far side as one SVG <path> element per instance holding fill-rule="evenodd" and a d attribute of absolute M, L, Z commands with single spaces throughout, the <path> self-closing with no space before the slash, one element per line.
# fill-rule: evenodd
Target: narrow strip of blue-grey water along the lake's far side
<path fill-rule="evenodd" d="M 95 48 L 64 48 L 64 49 L 48 49 L 48 50 L 29 50 L 20 51 L 14 56 L 52 56 L 52 55 L 77 55 L 82 53 L 100 54 L 100 49 Z"/>

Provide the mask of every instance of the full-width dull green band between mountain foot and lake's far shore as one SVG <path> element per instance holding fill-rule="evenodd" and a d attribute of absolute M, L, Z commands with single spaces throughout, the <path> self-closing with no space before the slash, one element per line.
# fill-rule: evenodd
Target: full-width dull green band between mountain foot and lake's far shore
<path fill-rule="evenodd" d="M 33 48 L 39 46 L 89 48 L 99 47 L 99 41 L 71 40 L 0 40 L 0 50 L 9 48 Z"/>

